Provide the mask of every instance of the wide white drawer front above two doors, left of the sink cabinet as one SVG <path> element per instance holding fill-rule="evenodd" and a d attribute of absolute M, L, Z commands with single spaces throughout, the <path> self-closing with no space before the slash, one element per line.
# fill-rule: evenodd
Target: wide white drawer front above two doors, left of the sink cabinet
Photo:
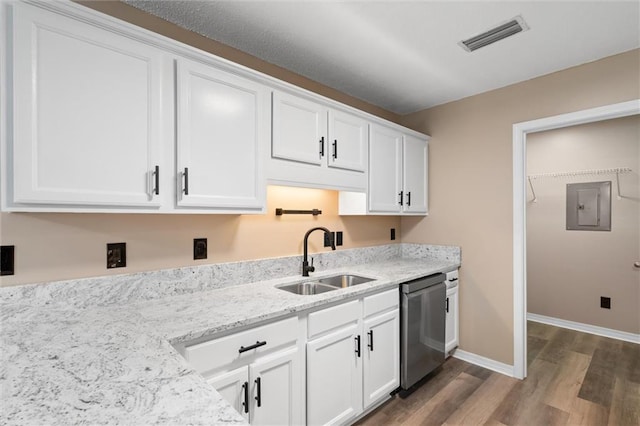
<path fill-rule="evenodd" d="M 291 346 L 298 340 L 298 318 L 288 318 L 219 339 L 185 347 L 185 358 L 197 372 L 213 372 L 234 363 L 251 362 L 257 356 Z M 263 342 L 266 342 L 263 344 Z M 255 349 L 243 350 L 256 346 Z"/>

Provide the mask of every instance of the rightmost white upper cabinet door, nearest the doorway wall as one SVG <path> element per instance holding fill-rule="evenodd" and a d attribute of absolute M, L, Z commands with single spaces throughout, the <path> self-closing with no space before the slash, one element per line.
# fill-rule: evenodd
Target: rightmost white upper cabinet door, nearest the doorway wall
<path fill-rule="evenodd" d="M 427 141 L 405 135 L 403 142 L 403 210 L 408 213 L 427 212 Z"/>

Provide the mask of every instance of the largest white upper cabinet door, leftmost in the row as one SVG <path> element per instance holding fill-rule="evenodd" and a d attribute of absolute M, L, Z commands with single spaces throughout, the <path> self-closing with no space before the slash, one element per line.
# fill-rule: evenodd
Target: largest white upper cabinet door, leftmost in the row
<path fill-rule="evenodd" d="M 12 19 L 13 202 L 159 206 L 152 177 L 171 119 L 161 99 L 170 62 L 149 45 L 29 5 L 14 5 Z"/>

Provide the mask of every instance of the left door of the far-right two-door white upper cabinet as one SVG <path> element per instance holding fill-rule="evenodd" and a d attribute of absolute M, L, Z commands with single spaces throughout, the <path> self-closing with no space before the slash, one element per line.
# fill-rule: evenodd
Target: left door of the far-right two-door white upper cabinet
<path fill-rule="evenodd" d="M 402 191 L 402 133 L 371 125 L 369 211 L 399 213 Z"/>

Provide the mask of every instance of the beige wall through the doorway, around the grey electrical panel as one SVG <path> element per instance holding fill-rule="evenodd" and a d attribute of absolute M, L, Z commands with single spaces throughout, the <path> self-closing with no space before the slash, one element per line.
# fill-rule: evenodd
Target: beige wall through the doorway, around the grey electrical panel
<path fill-rule="evenodd" d="M 640 333 L 640 116 L 527 136 L 527 173 L 630 167 L 615 174 L 535 179 L 527 203 L 528 311 Z M 566 230 L 566 186 L 612 183 L 611 231 Z M 611 297 L 611 310 L 600 308 Z"/>

